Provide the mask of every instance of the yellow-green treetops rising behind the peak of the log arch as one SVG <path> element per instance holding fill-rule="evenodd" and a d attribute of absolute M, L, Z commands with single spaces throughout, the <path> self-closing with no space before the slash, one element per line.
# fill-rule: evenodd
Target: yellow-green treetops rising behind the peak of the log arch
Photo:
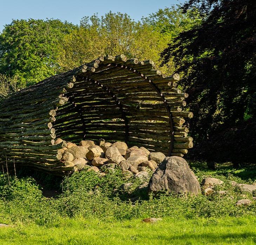
<path fill-rule="evenodd" d="M 167 22 L 173 31 L 163 31 Z M 153 59 L 159 64 L 159 53 L 167 47 L 170 37 L 187 29 L 191 22 L 194 21 L 188 21 L 175 7 L 159 10 L 137 22 L 127 14 L 112 12 L 101 18 L 95 14 L 84 17 L 80 27 L 65 37 L 58 62 L 63 70 L 68 70 L 101 55 L 124 54 L 128 58 Z M 165 71 L 173 73 L 170 68 Z"/>

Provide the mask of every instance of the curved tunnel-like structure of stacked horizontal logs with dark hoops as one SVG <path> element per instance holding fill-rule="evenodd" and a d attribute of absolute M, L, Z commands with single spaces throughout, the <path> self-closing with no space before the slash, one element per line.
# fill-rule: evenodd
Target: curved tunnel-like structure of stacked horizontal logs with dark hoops
<path fill-rule="evenodd" d="M 0 161 L 69 171 L 57 159 L 66 142 L 100 138 L 183 156 L 193 147 L 182 111 L 188 94 L 150 60 L 100 57 L 12 94 L 0 105 Z M 54 139 L 64 141 L 54 145 Z"/>

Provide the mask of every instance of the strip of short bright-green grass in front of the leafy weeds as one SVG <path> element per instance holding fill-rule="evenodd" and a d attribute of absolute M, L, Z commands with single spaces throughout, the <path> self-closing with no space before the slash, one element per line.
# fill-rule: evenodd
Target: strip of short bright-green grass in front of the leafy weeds
<path fill-rule="evenodd" d="M 19 225 L 0 229 L 0 244 L 256 244 L 256 217 L 163 218 L 124 222 L 63 219 L 57 227 Z"/>

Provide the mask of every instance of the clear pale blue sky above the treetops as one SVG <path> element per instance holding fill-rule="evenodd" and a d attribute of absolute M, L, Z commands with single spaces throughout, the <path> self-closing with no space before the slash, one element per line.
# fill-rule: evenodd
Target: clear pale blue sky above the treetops
<path fill-rule="evenodd" d="M 111 10 L 127 13 L 134 20 L 156 12 L 159 8 L 183 3 L 185 0 L 0 0 L 0 31 L 12 19 L 60 19 L 79 24 L 84 16 L 98 13 L 99 16 Z"/>

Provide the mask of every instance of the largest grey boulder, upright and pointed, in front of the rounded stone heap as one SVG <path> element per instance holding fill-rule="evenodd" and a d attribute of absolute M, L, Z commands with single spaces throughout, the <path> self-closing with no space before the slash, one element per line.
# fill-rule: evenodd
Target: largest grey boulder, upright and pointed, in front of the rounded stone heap
<path fill-rule="evenodd" d="M 185 159 L 179 156 L 166 157 L 152 175 L 149 192 L 167 190 L 176 194 L 199 194 L 200 184 Z"/>

